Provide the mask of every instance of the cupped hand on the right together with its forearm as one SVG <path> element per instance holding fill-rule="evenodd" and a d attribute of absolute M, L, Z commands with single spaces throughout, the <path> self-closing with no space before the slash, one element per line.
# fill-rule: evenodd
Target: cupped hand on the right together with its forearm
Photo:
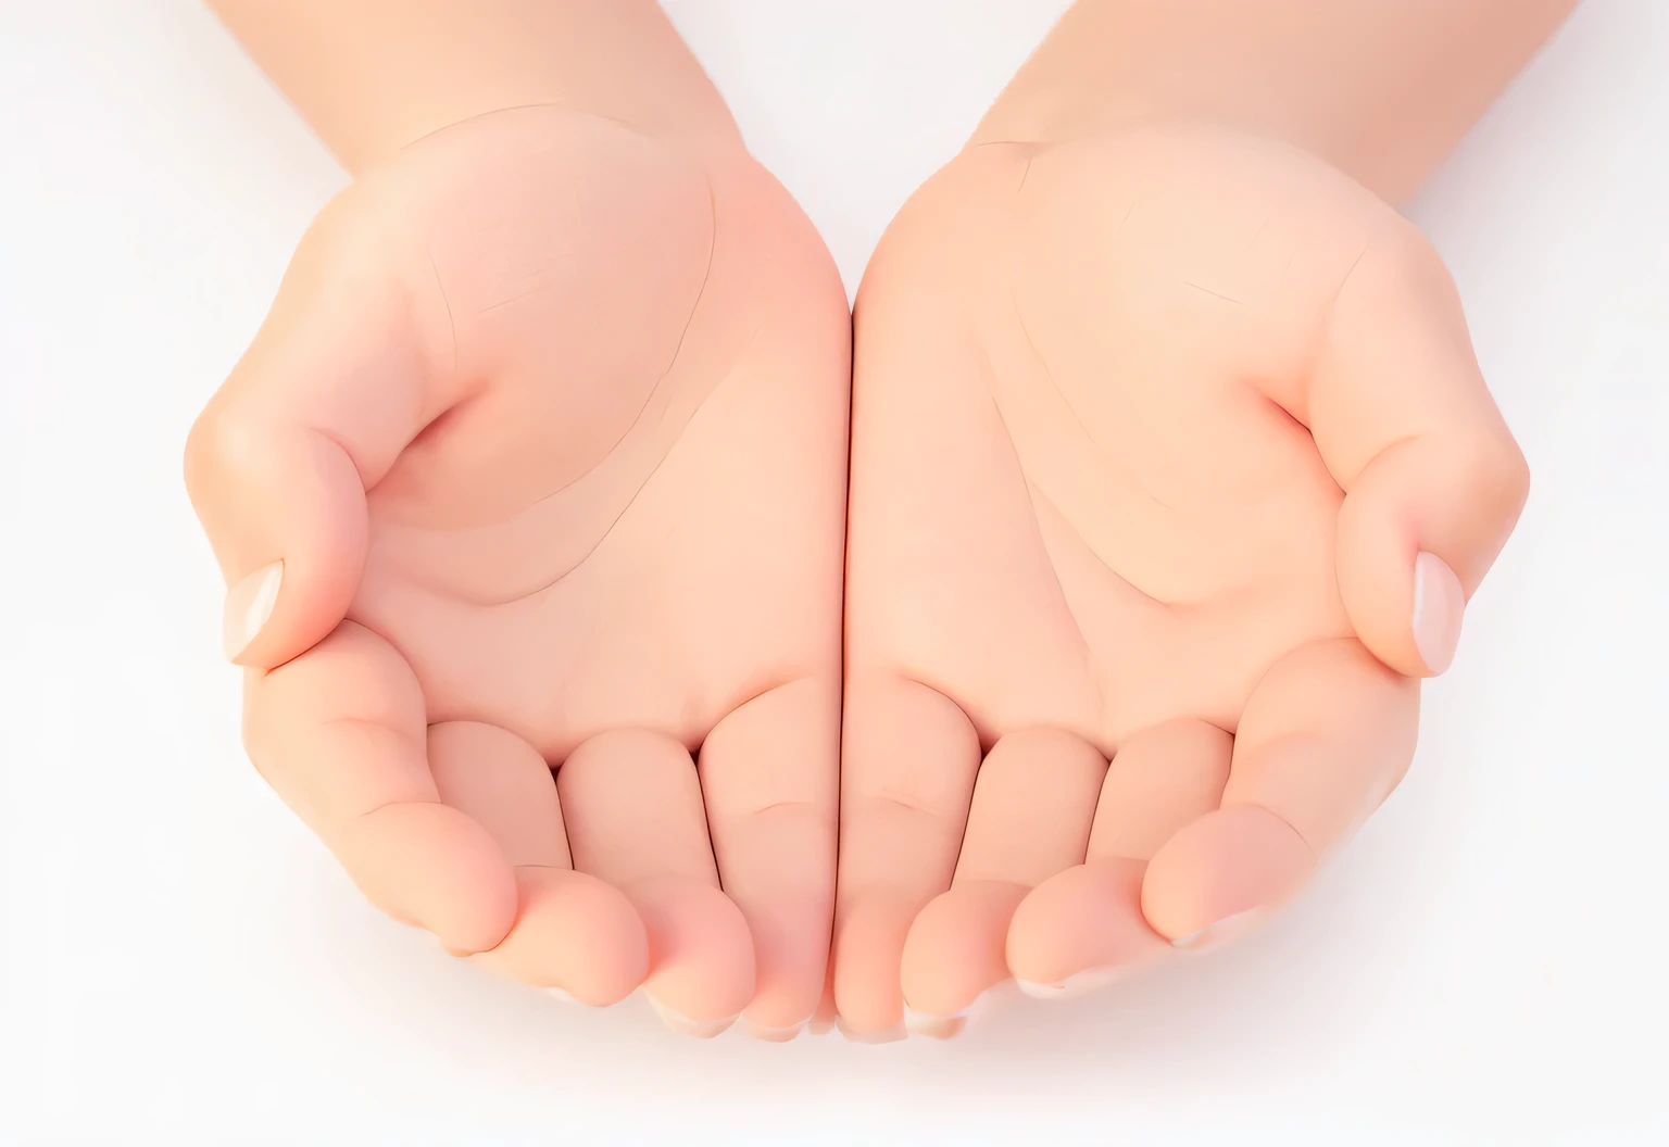
<path fill-rule="evenodd" d="M 1233 939 L 1395 787 L 1529 478 L 1387 200 L 1569 7 L 1085 0 L 898 213 L 855 313 L 850 1035 Z"/>

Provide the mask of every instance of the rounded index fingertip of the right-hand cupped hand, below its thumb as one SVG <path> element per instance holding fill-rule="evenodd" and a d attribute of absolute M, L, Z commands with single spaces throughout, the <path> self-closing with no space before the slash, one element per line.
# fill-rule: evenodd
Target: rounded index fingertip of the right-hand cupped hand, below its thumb
<path fill-rule="evenodd" d="M 1142 882 L 1142 914 L 1173 945 L 1198 947 L 1213 925 L 1252 922 L 1245 914 L 1288 900 L 1315 864 L 1315 850 L 1268 809 L 1225 805 L 1158 850 Z"/>

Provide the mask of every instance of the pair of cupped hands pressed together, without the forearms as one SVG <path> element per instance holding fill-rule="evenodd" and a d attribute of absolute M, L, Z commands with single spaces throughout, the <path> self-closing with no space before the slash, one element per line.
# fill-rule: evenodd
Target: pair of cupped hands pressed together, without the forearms
<path fill-rule="evenodd" d="M 1432 248 L 1277 140 L 976 140 L 850 313 L 739 142 L 554 107 L 325 207 L 187 480 L 249 754 L 377 907 L 868 1040 L 1287 900 L 1527 488 Z"/>

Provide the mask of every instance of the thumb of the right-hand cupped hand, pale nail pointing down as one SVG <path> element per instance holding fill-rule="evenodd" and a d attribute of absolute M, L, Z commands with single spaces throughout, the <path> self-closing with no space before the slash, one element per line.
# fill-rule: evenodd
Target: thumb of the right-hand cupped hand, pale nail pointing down
<path fill-rule="evenodd" d="M 1337 297 L 1302 418 L 1345 492 L 1339 590 L 1362 644 L 1407 677 L 1449 669 L 1465 602 L 1529 493 L 1435 250 L 1397 220 Z"/>

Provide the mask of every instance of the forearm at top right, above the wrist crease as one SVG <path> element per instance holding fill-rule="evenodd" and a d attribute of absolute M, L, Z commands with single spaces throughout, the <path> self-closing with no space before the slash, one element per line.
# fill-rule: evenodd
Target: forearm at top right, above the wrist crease
<path fill-rule="evenodd" d="M 975 142 L 1205 118 L 1402 202 L 1576 0 L 1078 0 Z"/>

